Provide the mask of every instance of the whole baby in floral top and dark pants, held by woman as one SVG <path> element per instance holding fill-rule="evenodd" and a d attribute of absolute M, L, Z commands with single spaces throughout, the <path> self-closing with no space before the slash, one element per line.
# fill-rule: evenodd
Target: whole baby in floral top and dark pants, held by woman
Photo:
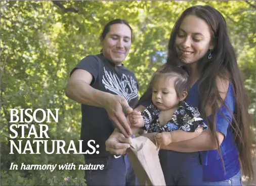
<path fill-rule="evenodd" d="M 149 86 L 152 87 L 151 104 L 142 102 L 142 105 L 149 106 L 142 113 L 133 111 L 127 118 L 134 133 L 140 132 L 138 127 L 142 127 L 148 132 L 143 135 L 152 142 L 155 142 L 156 137 L 160 146 L 167 146 L 190 140 L 207 129 L 198 109 L 184 101 L 190 89 L 189 76 L 185 70 L 163 65 L 153 74 Z M 202 185 L 199 152 L 160 150 L 159 160 L 161 166 L 165 167 L 164 179 L 169 185 Z"/>

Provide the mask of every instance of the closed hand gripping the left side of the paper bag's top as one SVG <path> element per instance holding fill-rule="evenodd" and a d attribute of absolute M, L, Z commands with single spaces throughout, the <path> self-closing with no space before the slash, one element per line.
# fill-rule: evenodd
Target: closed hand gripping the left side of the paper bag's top
<path fill-rule="evenodd" d="M 126 138 L 122 133 L 115 129 L 106 141 L 106 151 L 111 154 L 123 155 L 126 154 L 126 149 L 130 148 L 132 138 Z"/>

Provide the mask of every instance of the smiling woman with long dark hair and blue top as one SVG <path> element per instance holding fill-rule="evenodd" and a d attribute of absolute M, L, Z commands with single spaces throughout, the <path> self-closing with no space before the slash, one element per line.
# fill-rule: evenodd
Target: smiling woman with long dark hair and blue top
<path fill-rule="evenodd" d="M 209 130 L 192 140 L 162 146 L 160 160 L 168 156 L 166 150 L 199 152 L 204 185 L 241 185 L 240 167 L 252 180 L 249 99 L 221 13 L 210 6 L 185 10 L 170 35 L 166 63 L 189 71 L 191 90 L 186 102 L 199 108 Z M 149 86 L 136 110 L 150 104 L 151 94 Z M 122 135 L 114 132 L 106 142 L 107 150 L 125 153 L 122 142 Z M 175 168 L 171 160 L 162 164 L 165 179 L 170 168 Z"/>

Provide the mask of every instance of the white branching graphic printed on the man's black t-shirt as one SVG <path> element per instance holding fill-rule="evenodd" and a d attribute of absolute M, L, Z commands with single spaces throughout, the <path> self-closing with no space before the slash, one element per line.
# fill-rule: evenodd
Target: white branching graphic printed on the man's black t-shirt
<path fill-rule="evenodd" d="M 138 97 L 137 82 L 132 76 L 122 74 L 121 79 L 119 79 L 115 73 L 111 74 L 110 71 L 106 71 L 105 67 L 104 72 L 102 83 L 106 89 L 122 96 L 127 102 Z"/>

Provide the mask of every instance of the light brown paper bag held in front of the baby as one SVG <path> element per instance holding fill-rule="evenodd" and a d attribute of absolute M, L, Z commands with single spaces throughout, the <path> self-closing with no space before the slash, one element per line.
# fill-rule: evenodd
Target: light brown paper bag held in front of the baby
<path fill-rule="evenodd" d="M 159 147 L 145 136 L 132 139 L 127 154 L 140 185 L 166 185 L 158 151 Z"/>

